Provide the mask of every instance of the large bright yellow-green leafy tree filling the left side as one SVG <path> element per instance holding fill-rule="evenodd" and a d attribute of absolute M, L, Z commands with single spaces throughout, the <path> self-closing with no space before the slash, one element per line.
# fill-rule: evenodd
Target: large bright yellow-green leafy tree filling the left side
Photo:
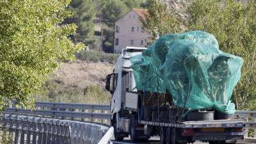
<path fill-rule="evenodd" d="M 33 104 L 61 60 L 71 60 L 83 45 L 67 38 L 75 24 L 60 25 L 70 17 L 68 0 L 0 0 L 0 109 L 16 99 Z"/>

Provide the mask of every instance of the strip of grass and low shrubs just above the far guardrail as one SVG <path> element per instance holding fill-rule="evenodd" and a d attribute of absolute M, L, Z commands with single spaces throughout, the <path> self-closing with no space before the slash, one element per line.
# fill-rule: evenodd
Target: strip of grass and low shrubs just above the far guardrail
<path fill-rule="evenodd" d="M 65 86 L 61 79 L 50 79 L 44 85 L 44 93 L 34 95 L 36 100 L 49 102 L 109 103 L 110 94 L 99 86 L 84 88 Z"/>

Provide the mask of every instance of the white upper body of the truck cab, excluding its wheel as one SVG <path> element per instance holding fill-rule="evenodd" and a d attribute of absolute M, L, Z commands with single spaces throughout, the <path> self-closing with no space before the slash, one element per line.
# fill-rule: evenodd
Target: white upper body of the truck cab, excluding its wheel
<path fill-rule="evenodd" d="M 130 68 L 131 61 L 129 58 L 141 54 L 145 49 L 147 47 L 126 47 L 126 49 L 122 49 L 122 54 L 116 61 L 113 73 L 107 76 L 106 89 L 112 95 L 111 113 L 118 113 L 121 110 L 122 104 L 131 105 L 130 102 L 125 102 L 125 92 L 136 92 L 134 75 Z"/>

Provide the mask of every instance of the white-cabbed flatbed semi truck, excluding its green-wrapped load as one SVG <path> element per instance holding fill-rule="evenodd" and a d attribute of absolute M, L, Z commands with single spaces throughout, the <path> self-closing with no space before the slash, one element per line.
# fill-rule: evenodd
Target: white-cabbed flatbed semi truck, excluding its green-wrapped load
<path fill-rule="evenodd" d="M 130 136 L 131 141 L 136 142 L 159 136 L 161 144 L 195 141 L 225 144 L 243 139 L 245 125 L 236 115 L 220 113 L 216 109 L 188 111 L 173 104 L 168 90 L 165 93 L 137 90 L 130 58 L 145 49 L 122 49 L 113 73 L 106 76 L 115 140 Z"/>

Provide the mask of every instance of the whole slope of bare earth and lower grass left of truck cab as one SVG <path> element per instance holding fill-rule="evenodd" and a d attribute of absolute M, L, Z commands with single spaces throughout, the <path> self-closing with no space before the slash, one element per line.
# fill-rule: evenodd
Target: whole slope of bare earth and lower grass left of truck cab
<path fill-rule="evenodd" d="M 34 97 L 52 102 L 108 103 L 110 94 L 104 90 L 104 81 L 112 71 L 113 64 L 108 62 L 76 60 L 61 63 L 45 84 L 44 92 Z"/>

